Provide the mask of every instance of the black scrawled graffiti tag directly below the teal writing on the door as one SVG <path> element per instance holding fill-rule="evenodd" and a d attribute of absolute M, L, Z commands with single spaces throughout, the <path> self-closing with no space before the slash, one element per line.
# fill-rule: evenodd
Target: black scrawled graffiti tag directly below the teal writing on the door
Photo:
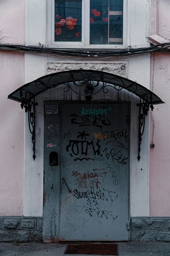
<path fill-rule="evenodd" d="M 83 115 L 78 116 L 77 114 L 72 114 L 71 117 L 71 124 L 76 124 L 79 127 L 81 126 L 95 126 L 99 127 L 100 130 L 102 130 L 103 126 L 109 126 L 111 125 L 111 122 L 106 118 L 106 116 L 101 114 L 89 114 L 89 115 Z"/>

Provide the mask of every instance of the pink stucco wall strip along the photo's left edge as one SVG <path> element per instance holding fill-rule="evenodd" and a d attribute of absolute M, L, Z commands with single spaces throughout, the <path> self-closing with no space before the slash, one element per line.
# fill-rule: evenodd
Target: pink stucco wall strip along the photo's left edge
<path fill-rule="evenodd" d="M 0 43 L 24 43 L 24 1 L 0 1 Z M 7 99 L 24 83 L 24 53 L 0 50 L 0 215 L 23 214 L 24 111 Z"/>

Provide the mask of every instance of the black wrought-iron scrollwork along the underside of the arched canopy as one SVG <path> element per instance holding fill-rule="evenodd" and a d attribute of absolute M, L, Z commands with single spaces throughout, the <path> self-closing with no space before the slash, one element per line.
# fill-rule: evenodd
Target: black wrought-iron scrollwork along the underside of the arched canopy
<path fill-rule="evenodd" d="M 63 82 L 59 82 L 63 81 Z M 114 82 L 113 82 L 114 81 Z M 30 83 L 25 86 L 24 92 L 29 94 L 29 87 L 36 87 L 36 89 L 44 90 L 50 88 L 57 88 L 60 85 L 65 85 L 63 89 L 64 92 L 69 92 L 70 90 L 75 94 L 81 96 L 92 96 L 103 91 L 107 94 L 109 92 L 108 88 L 113 88 L 116 91 L 121 91 L 122 89 L 127 90 L 130 93 L 140 94 L 140 97 L 146 98 L 151 96 L 145 88 L 141 88 L 137 83 L 126 83 L 121 77 L 114 76 L 110 74 L 110 78 L 106 79 L 105 74 L 102 72 L 81 72 L 70 71 L 69 77 L 66 79 L 62 74 L 51 74 L 46 83 L 43 83 L 40 79 L 37 79 L 35 83 Z M 82 92 L 77 92 L 76 87 L 81 87 Z M 84 92 L 83 92 L 84 91 Z"/>

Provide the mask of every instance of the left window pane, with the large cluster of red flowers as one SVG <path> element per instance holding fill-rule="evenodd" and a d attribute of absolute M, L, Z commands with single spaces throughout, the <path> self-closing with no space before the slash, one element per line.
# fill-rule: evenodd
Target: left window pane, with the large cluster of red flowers
<path fill-rule="evenodd" d="M 82 1 L 55 1 L 55 41 L 81 42 Z"/>

